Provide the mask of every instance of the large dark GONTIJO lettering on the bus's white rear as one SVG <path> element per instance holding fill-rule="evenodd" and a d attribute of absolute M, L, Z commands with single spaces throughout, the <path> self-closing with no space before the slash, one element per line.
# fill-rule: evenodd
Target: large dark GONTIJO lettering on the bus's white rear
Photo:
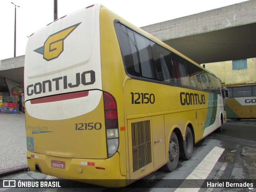
<path fill-rule="evenodd" d="M 55 90 L 60 90 L 60 86 L 63 89 L 67 88 L 74 88 L 80 86 L 80 84 L 86 86 L 94 84 L 95 82 L 95 72 L 93 70 L 84 71 L 81 73 L 76 73 L 76 83 L 69 83 L 68 76 L 62 76 L 53 78 L 52 80 L 45 80 L 43 82 L 37 82 L 35 84 L 31 84 L 27 86 L 27 95 L 31 96 L 33 94 L 41 94 L 42 92 L 45 93 L 46 91 L 51 92 L 52 88 L 54 87 L 52 84 L 55 84 Z M 46 88 L 46 86 L 48 86 Z"/>

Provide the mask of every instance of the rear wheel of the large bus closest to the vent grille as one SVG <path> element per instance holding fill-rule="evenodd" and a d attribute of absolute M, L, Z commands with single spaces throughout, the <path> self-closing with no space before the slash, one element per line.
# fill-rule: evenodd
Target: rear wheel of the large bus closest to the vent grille
<path fill-rule="evenodd" d="M 169 142 L 169 160 L 168 162 L 162 167 L 163 170 L 171 172 L 174 171 L 179 162 L 179 142 L 176 134 L 172 132 L 170 142 Z"/>

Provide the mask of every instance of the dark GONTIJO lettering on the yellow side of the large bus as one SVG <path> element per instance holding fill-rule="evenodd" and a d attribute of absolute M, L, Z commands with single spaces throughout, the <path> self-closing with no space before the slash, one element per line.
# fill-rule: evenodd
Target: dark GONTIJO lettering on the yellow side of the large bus
<path fill-rule="evenodd" d="M 180 92 L 181 105 L 202 105 L 205 104 L 204 94 Z"/>

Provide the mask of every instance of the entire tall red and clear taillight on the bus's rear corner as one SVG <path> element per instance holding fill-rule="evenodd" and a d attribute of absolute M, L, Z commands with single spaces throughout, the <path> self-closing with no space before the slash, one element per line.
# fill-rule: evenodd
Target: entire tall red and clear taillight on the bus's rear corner
<path fill-rule="evenodd" d="M 117 107 L 114 97 L 104 92 L 105 126 L 108 146 L 108 158 L 112 157 L 119 145 Z"/>

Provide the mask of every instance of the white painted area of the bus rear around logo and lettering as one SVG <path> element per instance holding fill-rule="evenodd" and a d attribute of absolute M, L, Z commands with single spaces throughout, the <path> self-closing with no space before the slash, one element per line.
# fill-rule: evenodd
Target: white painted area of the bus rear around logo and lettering
<path fill-rule="evenodd" d="M 99 16 L 100 5 L 95 4 L 93 7 L 83 8 L 68 14 L 30 36 L 25 58 L 25 101 L 69 92 L 102 90 Z M 45 46 L 45 42 L 50 36 L 74 25 L 77 25 L 76 28 L 65 38 L 59 40 L 60 42 L 58 43 L 62 43 L 63 50 L 58 57 L 46 60 L 43 52 L 40 54 L 35 51 L 42 46 L 44 46 L 44 49 L 49 48 L 49 46 Z M 51 43 L 54 44 L 56 42 Z M 90 72 L 92 71 L 95 73 L 95 82 L 90 84 L 90 81 L 92 81 Z M 83 72 L 85 73 L 82 76 Z M 77 82 L 78 75 L 80 82 Z M 82 84 L 82 80 L 86 81 L 86 85 L 84 85 L 85 83 Z M 80 113 L 84 114 L 93 110 L 98 105 L 101 95 L 102 92 L 90 92 L 88 97 L 80 100 L 94 100 L 94 102 L 90 103 L 92 106 L 89 108 L 80 106 L 81 108 L 86 108 L 86 111 L 76 110 L 78 114 L 69 112 L 63 115 L 61 113 L 61 118 L 72 118 L 80 115 Z M 63 110 L 60 109 L 60 106 L 63 107 L 63 101 L 59 103 L 60 105 L 55 102 L 54 104 L 44 103 L 31 107 L 30 102 L 26 102 L 26 110 L 30 116 L 35 118 L 60 119 L 60 117 L 56 117 L 58 113 L 55 111 L 58 109 Z M 37 112 L 40 110 L 45 110 L 45 113 Z"/>

